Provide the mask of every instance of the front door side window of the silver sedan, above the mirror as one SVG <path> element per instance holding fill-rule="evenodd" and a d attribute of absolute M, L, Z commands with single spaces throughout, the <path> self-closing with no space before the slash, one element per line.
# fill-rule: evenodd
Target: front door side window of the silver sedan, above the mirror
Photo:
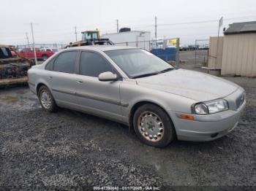
<path fill-rule="evenodd" d="M 100 73 L 113 71 L 110 64 L 94 52 L 82 52 L 80 58 L 80 74 L 89 77 L 98 77 Z"/>

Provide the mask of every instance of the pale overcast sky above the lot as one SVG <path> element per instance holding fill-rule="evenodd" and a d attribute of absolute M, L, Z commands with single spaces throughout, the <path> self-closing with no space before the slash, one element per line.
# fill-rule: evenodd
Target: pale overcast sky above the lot
<path fill-rule="evenodd" d="M 180 37 L 181 44 L 195 39 L 217 36 L 218 22 L 230 23 L 256 20 L 255 0 L 8 0 L 0 6 L 0 44 L 31 42 L 34 25 L 35 43 L 75 41 L 75 26 L 80 31 L 99 29 L 101 34 L 116 32 L 119 26 L 132 30 L 151 31 L 157 16 L 157 37 Z M 194 22 L 194 23 L 193 23 Z M 162 25 L 162 26 L 161 26 Z M 222 34 L 222 31 L 221 31 Z"/>

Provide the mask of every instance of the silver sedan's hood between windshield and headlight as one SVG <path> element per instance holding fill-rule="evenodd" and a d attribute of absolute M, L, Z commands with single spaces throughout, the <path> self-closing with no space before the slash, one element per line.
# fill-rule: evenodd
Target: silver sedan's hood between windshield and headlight
<path fill-rule="evenodd" d="M 140 86 L 181 95 L 195 101 L 223 98 L 239 87 L 225 79 L 185 69 L 176 69 L 151 77 L 138 78 L 136 81 Z"/>

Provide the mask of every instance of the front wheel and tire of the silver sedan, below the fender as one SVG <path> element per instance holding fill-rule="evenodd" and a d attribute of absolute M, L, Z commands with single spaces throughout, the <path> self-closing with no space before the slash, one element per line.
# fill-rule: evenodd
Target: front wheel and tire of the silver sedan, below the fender
<path fill-rule="evenodd" d="M 145 104 L 135 111 L 133 126 L 140 141 L 150 146 L 165 147 L 176 137 L 170 117 L 154 104 Z"/>

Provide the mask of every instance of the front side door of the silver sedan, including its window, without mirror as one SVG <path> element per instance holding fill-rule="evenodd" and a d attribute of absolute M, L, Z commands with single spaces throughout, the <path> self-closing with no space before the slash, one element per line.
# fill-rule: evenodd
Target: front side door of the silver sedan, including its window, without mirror
<path fill-rule="evenodd" d="M 78 103 L 88 112 L 120 120 L 121 81 L 99 81 L 99 74 L 105 71 L 116 73 L 113 66 L 99 52 L 82 51 L 80 53 L 76 86 Z"/>

